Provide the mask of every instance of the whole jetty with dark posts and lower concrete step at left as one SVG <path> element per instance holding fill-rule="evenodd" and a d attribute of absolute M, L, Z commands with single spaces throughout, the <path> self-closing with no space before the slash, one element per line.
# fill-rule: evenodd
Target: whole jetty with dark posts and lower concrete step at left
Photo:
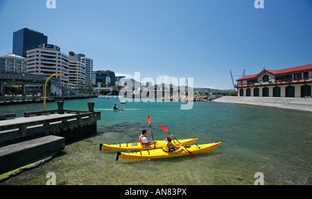
<path fill-rule="evenodd" d="M 0 116 L 0 174 L 40 157 L 64 150 L 65 142 L 92 135 L 97 130 L 101 112 L 65 110 L 58 102 L 58 110 L 25 112 L 24 117 L 7 119 L 14 114 Z"/>

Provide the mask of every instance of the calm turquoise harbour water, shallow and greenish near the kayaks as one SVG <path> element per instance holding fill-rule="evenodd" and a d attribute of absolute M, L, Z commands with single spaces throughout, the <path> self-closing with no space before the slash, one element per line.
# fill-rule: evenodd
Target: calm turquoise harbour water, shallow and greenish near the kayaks
<path fill-rule="evenodd" d="M 312 184 L 311 112 L 225 103 L 194 103 L 192 110 L 180 110 L 181 103 L 120 104 L 99 98 L 65 101 L 64 108 L 87 110 L 88 101 L 95 102 L 95 109 L 117 103 L 141 110 L 101 110 L 97 135 L 67 145 L 51 161 L 2 184 L 46 184 L 49 172 L 56 174 L 57 184 L 254 184 L 257 172 L 263 173 L 264 184 Z M 56 107 L 47 104 L 47 109 Z M 43 110 L 43 105 L 1 106 L 0 113 L 12 109 L 22 116 L 24 110 Z M 164 124 L 177 139 L 223 143 L 198 158 L 116 162 L 116 151 L 98 150 L 99 143 L 138 141 L 141 130 L 149 128 L 148 115 L 155 139 L 168 135 L 160 128 Z"/>

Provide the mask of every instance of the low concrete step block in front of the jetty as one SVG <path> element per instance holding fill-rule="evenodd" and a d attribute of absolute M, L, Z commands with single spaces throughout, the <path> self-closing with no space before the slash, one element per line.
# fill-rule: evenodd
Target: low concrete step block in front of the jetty
<path fill-rule="evenodd" d="M 64 148 L 64 137 L 53 135 L 3 146 L 0 148 L 0 174 L 36 159 L 59 153 Z"/>

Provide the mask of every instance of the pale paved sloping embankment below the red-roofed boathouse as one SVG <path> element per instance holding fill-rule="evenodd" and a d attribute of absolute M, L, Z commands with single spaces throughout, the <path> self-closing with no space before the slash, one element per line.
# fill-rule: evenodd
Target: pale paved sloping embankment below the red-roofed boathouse
<path fill-rule="evenodd" d="M 282 98 L 282 97 L 239 97 L 223 96 L 214 100 L 218 103 L 239 103 L 247 105 L 263 105 L 286 108 L 291 110 L 304 110 L 312 112 L 312 98 Z"/>

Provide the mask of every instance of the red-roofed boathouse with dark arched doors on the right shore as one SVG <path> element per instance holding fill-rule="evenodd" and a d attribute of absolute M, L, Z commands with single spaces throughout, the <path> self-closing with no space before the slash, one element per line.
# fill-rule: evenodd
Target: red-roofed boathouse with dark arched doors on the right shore
<path fill-rule="evenodd" d="M 239 78 L 235 87 L 239 96 L 305 97 L 312 92 L 312 64 L 280 70 L 263 69 L 261 73 Z"/>

